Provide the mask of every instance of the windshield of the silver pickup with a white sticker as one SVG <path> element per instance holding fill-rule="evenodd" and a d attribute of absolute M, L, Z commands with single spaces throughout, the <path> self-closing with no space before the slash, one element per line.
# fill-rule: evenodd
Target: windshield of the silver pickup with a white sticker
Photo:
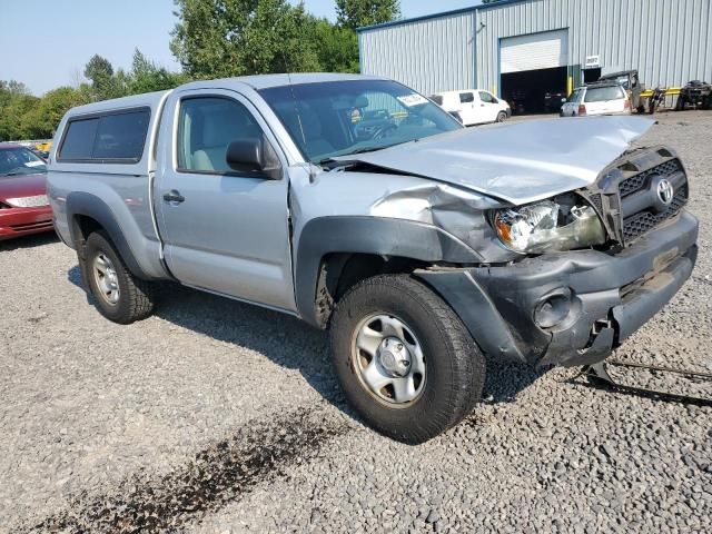
<path fill-rule="evenodd" d="M 388 80 L 300 83 L 260 95 L 314 162 L 462 128 L 425 97 Z"/>

